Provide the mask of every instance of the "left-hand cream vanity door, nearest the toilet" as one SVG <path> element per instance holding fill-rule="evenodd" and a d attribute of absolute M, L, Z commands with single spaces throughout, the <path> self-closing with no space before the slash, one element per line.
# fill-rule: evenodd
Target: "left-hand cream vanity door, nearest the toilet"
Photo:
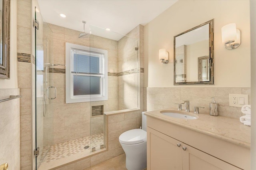
<path fill-rule="evenodd" d="M 147 142 L 147 170 L 182 170 L 182 142 L 149 127 Z"/>

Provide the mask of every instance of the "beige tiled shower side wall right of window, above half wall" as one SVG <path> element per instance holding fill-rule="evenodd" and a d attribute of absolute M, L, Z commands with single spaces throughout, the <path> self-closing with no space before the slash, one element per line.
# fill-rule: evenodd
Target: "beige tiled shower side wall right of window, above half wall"
<path fill-rule="evenodd" d="M 137 62 L 140 67 L 144 67 L 144 28 L 138 25 L 127 36 L 118 41 L 118 72 L 128 71 L 137 68 Z M 134 48 L 138 47 L 138 51 Z M 118 77 L 118 110 L 134 109 L 138 104 L 138 80 L 140 87 L 143 87 L 144 73 L 133 73 Z M 140 89 L 143 96 L 143 90 Z M 143 97 L 140 109 L 143 110 Z"/>

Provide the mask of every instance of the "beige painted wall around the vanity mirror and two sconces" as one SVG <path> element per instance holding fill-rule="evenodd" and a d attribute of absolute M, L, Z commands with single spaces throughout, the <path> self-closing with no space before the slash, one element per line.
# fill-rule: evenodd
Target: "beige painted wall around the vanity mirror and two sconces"
<path fill-rule="evenodd" d="M 232 17 L 227 15 L 228 11 L 235 11 Z M 215 83 L 208 87 L 250 87 L 249 0 L 180 0 L 144 26 L 144 86 L 174 87 L 173 37 L 213 18 Z M 232 22 L 241 31 L 242 43 L 238 49 L 230 51 L 222 44 L 221 28 Z M 158 60 L 161 48 L 166 48 L 170 54 L 166 65 Z"/>

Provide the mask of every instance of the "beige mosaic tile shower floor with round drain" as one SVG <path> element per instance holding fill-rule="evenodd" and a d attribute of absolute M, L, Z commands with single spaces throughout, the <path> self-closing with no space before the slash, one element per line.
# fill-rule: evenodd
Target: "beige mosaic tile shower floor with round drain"
<path fill-rule="evenodd" d="M 90 146 L 91 144 L 91 146 Z M 91 148 L 95 147 L 96 150 L 100 149 L 100 145 L 104 144 L 103 133 L 94 134 L 91 136 L 70 140 L 67 142 L 54 144 L 47 152 L 47 148 L 42 151 L 42 159 L 40 162 L 52 162 L 60 158 L 65 158 L 79 152 L 90 152 Z M 84 149 L 85 146 L 90 146 Z M 44 156 L 45 155 L 45 156 Z"/>

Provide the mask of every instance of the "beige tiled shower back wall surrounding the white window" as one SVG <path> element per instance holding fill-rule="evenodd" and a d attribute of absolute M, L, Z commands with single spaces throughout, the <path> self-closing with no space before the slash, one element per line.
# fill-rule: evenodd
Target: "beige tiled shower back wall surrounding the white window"
<path fill-rule="evenodd" d="M 65 64 L 65 43 L 68 42 L 108 50 L 108 71 L 117 71 L 117 41 L 94 35 L 87 39 L 78 39 L 79 34 L 80 32 L 75 30 L 44 23 L 44 39 L 48 40 L 48 47 L 50 47 L 47 61 Z M 59 68 L 64 67 L 60 66 Z M 89 136 L 90 131 L 92 134 L 103 132 L 103 117 L 90 120 L 90 107 L 104 105 L 104 112 L 118 110 L 118 77 L 108 76 L 108 101 L 66 104 L 66 75 L 64 73 L 48 73 L 48 76 L 48 86 L 55 86 L 58 95 L 56 99 L 49 100 L 48 113 L 44 119 L 44 135 L 48 136 L 45 142 L 50 143 L 50 140 L 53 140 L 52 143 L 56 144 Z"/>

